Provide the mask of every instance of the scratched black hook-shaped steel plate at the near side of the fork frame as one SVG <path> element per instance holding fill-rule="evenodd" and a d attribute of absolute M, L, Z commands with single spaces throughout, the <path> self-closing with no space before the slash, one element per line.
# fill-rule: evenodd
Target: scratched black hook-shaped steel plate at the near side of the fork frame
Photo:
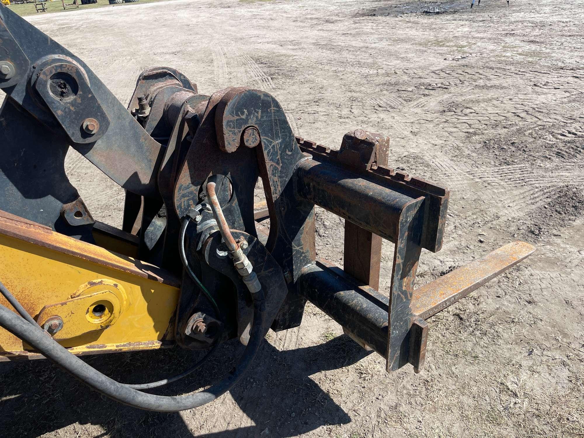
<path fill-rule="evenodd" d="M 259 133 L 255 150 L 270 214 L 266 248 L 281 266 L 290 291 L 272 328 L 300 325 L 305 300 L 294 284 L 301 269 L 315 259 L 314 204 L 297 196 L 296 187 L 297 168 L 306 157 L 284 110 L 263 91 L 232 88 L 225 92 L 217 106 L 215 127 L 222 151 L 245 149 L 246 128 Z"/>

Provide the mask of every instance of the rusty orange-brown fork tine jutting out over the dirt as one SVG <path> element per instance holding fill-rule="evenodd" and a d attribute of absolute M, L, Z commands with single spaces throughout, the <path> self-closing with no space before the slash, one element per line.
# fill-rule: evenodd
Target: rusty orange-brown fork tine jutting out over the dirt
<path fill-rule="evenodd" d="M 456 303 L 523 259 L 536 248 L 526 242 L 512 242 L 501 246 L 486 256 L 453 270 L 413 293 L 412 312 L 419 318 L 428 319 Z"/>

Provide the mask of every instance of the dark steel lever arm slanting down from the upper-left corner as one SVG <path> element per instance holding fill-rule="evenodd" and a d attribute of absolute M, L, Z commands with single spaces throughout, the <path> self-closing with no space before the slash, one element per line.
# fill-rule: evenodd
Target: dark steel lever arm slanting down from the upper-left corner
<path fill-rule="evenodd" d="M 29 117 L 36 119 L 37 123 L 40 121 L 55 133 L 62 132 L 61 124 L 57 121 L 59 115 L 57 114 L 57 119 L 55 119 L 55 116 L 41 105 L 42 99 L 33 95 L 33 91 L 27 85 L 28 81 L 24 79 L 32 75 L 32 65 L 39 61 L 50 57 L 71 61 L 85 74 L 92 96 L 95 96 L 95 99 L 99 101 L 111 121 L 109 129 L 99 140 L 88 144 L 73 142 L 71 146 L 124 189 L 145 196 L 156 193 L 154 171 L 162 159 L 161 145 L 142 129 L 134 117 L 128 113 L 126 108 L 83 61 L 26 20 L 20 18 L 16 13 L 10 11 L 6 6 L 0 5 L 0 12 L 2 29 L 5 29 L 2 36 L 8 34 L 6 32 L 8 29 L 13 37 L 13 40 L 11 38 L 2 39 L 0 53 L 2 56 L 9 55 L 11 57 L 19 57 L 23 53 L 30 61 L 31 66 L 27 68 L 25 77 L 19 77 L 18 84 L 4 88 L 9 98 L 31 114 Z M 16 41 L 18 46 L 10 41 Z M 78 103 L 76 100 L 72 100 L 71 105 L 77 106 Z M 85 110 L 83 103 L 79 105 Z M 24 113 L 22 117 L 26 117 Z M 88 117 L 91 115 L 88 114 Z M 54 134 L 45 133 L 44 135 Z M 37 141 L 37 138 L 29 136 L 28 141 Z M 11 145 L 11 147 L 16 147 L 16 145 Z M 47 157 L 47 161 L 53 159 L 53 157 Z M 19 214 L 26 217 L 26 211 Z"/>

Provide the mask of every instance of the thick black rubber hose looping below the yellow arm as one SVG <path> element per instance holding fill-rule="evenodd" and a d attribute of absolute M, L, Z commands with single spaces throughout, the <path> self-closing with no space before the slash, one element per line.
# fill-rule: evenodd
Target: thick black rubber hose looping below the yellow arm
<path fill-rule="evenodd" d="M 89 366 L 77 356 L 74 356 L 74 354 L 69 353 L 67 349 L 55 342 L 53 338 L 47 336 L 47 333 L 38 326 L 30 324 L 3 305 L 0 305 L 0 325 L 13 335 L 25 340 L 25 342 L 39 350 L 47 359 L 54 361 L 65 371 L 71 373 L 72 376 L 107 397 L 134 408 L 147 409 L 148 411 L 178 412 L 197 408 L 225 394 L 251 366 L 253 357 L 255 357 L 262 343 L 266 308 L 263 290 L 251 295 L 253 299 L 253 323 L 249 333 L 249 342 L 235 369 L 227 377 L 207 390 L 173 397 L 140 392 L 116 382 Z"/>

